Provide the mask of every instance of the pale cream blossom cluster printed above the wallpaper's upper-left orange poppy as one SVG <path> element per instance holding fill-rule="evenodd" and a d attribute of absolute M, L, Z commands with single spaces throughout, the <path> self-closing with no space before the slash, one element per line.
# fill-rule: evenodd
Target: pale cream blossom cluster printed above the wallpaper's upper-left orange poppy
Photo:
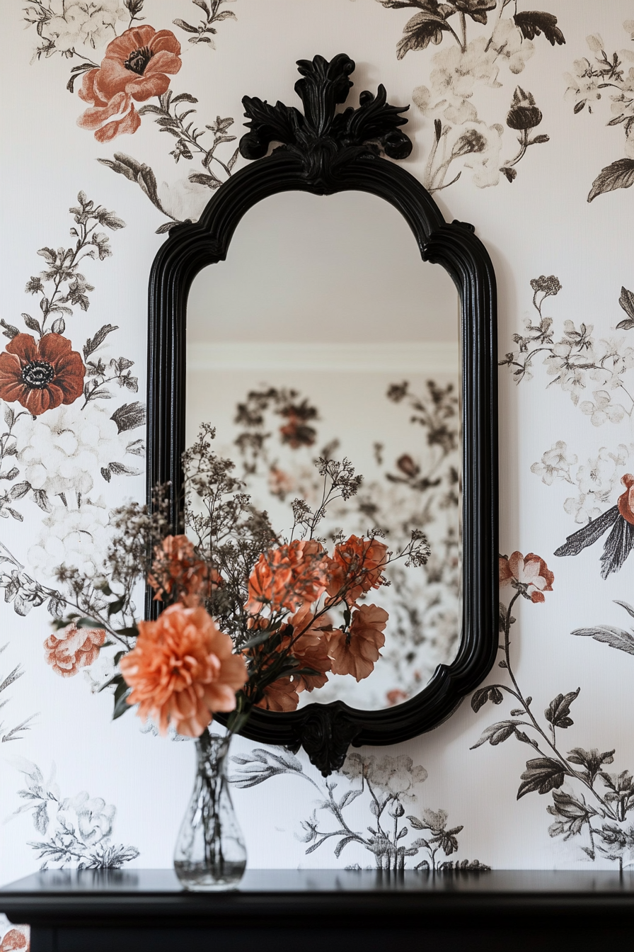
<path fill-rule="evenodd" d="M 70 53 L 80 45 L 95 50 L 113 38 L 117 22 L 127 15 L 121 0 L 66 0 L 64 12 L 51 16 L 46 26 L 61 52 Z"/>

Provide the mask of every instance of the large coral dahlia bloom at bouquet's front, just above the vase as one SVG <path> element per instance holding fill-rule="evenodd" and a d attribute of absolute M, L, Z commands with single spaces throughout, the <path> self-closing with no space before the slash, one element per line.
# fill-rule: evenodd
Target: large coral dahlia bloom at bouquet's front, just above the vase
<path fill-rule="evenodd" d="M 119 663 L 139 704 L 139 716 L 153 718 L 164 734 L 173 724 L 183 737 L 200 737 L 214 711 L 232 711 L 236 691 L 246 681 L 246 664 L 233 654 L 204 608 L 176 603 L 156 622 L 139 622 L 139 637 Z"/>

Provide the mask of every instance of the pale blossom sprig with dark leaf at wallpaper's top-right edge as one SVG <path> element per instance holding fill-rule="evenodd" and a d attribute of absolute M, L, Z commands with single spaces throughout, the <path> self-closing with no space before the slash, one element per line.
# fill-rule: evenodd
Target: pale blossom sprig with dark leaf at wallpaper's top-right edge
<path fill-rule="evenodd" d="M 623 29 L 631 44 L 634 20 L 625 20 Z M 601 169 L 587 196 L 591 202 L 598 195 L 616 188 L 631 188 L 634 183 L 634 138 L 630 138 L 634 121 L 634 50 L 630 47 L 608 53 L 599 33 L 590 34 L 586 42 L 589 54 L 575 60 L 572 71 L 566 74 L 566 98 L 573 104 L 575 114 L 584 109 L 607 112 L 606 126 L 621 126 L 625 136 L 624 158 Z"/>

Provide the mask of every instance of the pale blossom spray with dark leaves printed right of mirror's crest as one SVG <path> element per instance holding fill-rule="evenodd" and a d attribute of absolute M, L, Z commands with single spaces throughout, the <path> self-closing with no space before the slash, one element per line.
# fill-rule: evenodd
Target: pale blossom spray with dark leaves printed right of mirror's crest
<path fill-rule="evenodd" d="M 433 122 L 432 146 L 423 175 L 430 192 L 449 188 L 471 170 L 478 188 L 497 185 L 500 175 L 508 182 L 517 177 L 516 166 L 530 146 L 548 142 L 546 133 L 534 134 L 543 115 L 532 93 L 517 86 L 510 104 L 500 104 L 502 122 L 488 125 L 478 115 L 474 93 L 477 89 L 502 89 L 505 70 L 522 72 L 535 48 L 532 40 L 544 36 L 551 46 L 566 42 L 557 18 L 548 12 L 518 11 L 508 0 L 378 0 L 388 10 L 414 8 L 417 13 L 406 23 L 396 54 L 426 50 L 447 40 L 446 49 L 432 59 L 431 85 L 413 90 L 413 102 Z M 485 27 L 468 38 L 469 29 Z M 508 103 L 508 99 L 506 99 Z M 506 126 L 506 129 L 505 129 Z M 508 136 L 519 133 L 514 154 L 501 158 Z"/>

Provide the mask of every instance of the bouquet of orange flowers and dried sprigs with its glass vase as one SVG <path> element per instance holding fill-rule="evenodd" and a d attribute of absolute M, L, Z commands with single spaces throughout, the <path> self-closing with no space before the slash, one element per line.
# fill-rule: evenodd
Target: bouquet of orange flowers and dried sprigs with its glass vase
<path fill-rule="evenodd" d="M 114 717 L 136 705 L 160 733 L 198 739 L 197 782 L 175 864 L 187 887 L 204 889 L 236 882 L 246 863 L 223 773 L 231 736 L 254 707 L 294 710 L 329 674 L 367 678 L 388 613 L 365 599 L 388 584 L 383 572 L 396 559 L 425 565 L 430 554 L 420 530 L 395 554 L 377 531 L 338 533 L 328 551 L 319 523 L 362 480 L 345 459 L 317 461 L 318 505 L 296 499 L 294 524 L 279 535 L 243 491 L 234 464 L 213 452 L 214 436 L 203 425 L 183 454 L 185 534 L 173 534 L 161 488 L 151 511 L 115 510 L 104 578 L 58 570 L 72 610 L 46 642 L 48 660 L 67 675 L 118 645 L 117 671 L 103 685 L 114 688 Z M 140 582 L 154 590 L 156 621 L 137 617 Z M 226 737 L 209 733 L 216 712 L 228 715 Z"/>

